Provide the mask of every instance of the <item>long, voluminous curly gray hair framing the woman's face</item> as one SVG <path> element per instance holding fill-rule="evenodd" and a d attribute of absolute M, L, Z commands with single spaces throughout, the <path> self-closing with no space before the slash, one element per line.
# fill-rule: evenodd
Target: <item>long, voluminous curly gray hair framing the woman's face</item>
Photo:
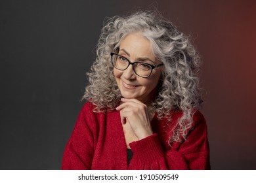
<path fill-rule="evenodd" d="M 106 20 L 96 46 L 96 61 L 87 73 L 89 84 L 83 99 L 91 101 L 95 112 L 114 110 L 121 99 L 111 63 L 110 52 L 130 33 L 146 37 L 158 60 L 164 64 L 158 95 L 150 106 L 158 118 L 171 120 L 172 110 L 182 116 L 173 126 L 171 142 L 186 139 L 192 127 L 194 109 L 202 104 L 199 88 L 200 55 L 190 38 L 180 33 L 157 11 L 137 11 L 129 16 L 114 16 Z"/>

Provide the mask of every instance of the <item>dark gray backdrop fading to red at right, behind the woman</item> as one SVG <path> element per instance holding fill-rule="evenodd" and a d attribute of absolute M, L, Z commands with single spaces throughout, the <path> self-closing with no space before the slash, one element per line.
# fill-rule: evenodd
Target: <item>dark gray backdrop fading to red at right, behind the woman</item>
<path fill-rule="evenodd" d="M 104 18 L 153 2 L 0 1 L 0 169 L 60 169 Z M 157 2 L 203 57 L 212 169 L 256 169 L 255 1 Z"/>

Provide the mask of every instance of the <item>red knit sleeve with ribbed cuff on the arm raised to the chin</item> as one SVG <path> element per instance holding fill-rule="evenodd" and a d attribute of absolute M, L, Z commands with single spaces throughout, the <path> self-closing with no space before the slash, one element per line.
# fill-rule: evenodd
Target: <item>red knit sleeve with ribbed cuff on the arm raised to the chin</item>
<path fill-rule="evenodd" d="M 210 169 L 206 123 L 200 112 L 193 118 L 186 141 L 174 142 L 167 151 L 156 133 L 131 142 L 133 159 L 129 169 Z"/>

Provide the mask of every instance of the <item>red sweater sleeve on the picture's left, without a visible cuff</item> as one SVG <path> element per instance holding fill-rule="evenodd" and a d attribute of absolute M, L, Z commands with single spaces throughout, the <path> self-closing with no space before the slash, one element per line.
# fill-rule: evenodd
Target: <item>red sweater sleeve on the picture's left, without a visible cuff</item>
<path fill-rule="evenodd" d="M 82 108 L 74 131 L 66 145 L 62 158 L 62 169 L 91 169 L 93 161 L 96 127 L 89 122 L 96 121 L 88 114 L 90 104 Z"/>

